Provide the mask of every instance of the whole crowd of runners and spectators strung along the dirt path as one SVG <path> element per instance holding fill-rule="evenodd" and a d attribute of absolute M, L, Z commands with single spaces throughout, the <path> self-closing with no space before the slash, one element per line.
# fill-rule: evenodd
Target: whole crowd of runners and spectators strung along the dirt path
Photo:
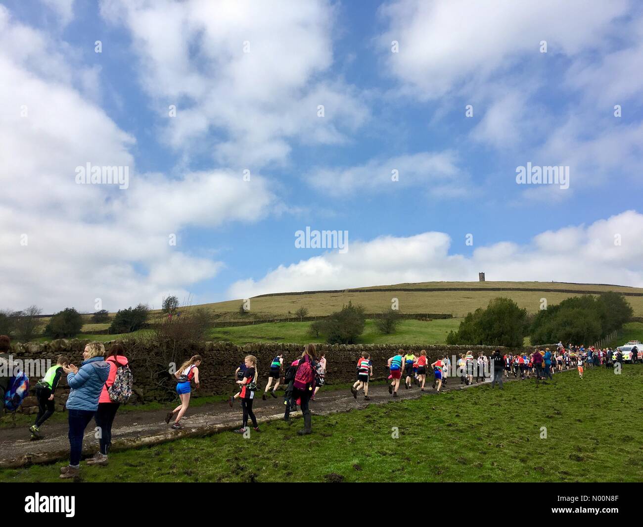
<path fill-rule="evenodd" d="M 0 336 L 0 352 L 9 349 L 9 339 Z M 448 382 L 460 385 L 471 385 L 479 382 L 490 382 L 491 388 L 496 384 L 502 389 L 503 379 L 520 378 L 521 380 L 534 379 L 536 383 L 553 380 L 553 374 L 575 368 L 579 378 L 583 378 L 586 367 L 622 367 L 625 362 L 643 362 L 643 350 L 635 348 L 633 353 L 624 357 L 619 349 L 610 347 L 599 349 L 595 347 L 575 346 L 562 342 L 553 351 L 534 349 L 530 353 L 503 354 L 496 349 L 491 356 L 482 352 L 477 356 L 473 351 L 461 353 L 460 356 L 452 355 L 453 361 L 448 356 L 430 362 L 425 350 L 415 355 L 411 351 L 399 349 L 397 354 L 388 358 L 386 371 L 388 373 L 388 392 L 392 397 L 397 397 L 400 384 L 404 389 L 418 387 L 426 391 L 426 384 L 431 383 L 435 393 L 442 393 L 442 388 Z M 99 450 L 87 465 L 107 464 L 109 447 L 111 445 L 111 430 L 116 412 L 122 403 L 127 402 L 132 394 L 132 372 L 121 344 L 113 344 L 109 351 L 100 342 L 87 344 L 83 353 L 83 362 L 80 367 L 75 366 L 67 356 L 60 355 L 57 363 L 50 367 L 44 377 L 36 384 L 35 395 L 39 411 L 35 422 L 29 428 L 32 439 L 41 439 L 41 427 L 53 415 L 55 410 L 55 394 L 59 387 L 60 379 L 66 374 L 66 379 L 71 391 L 65 406 L 69 421 L 69 465 L 62 467 L 60 477 L 63 479 L 76 477 L 80 470 L 82 455 L 82 441 L 87 425 L 95 420 Z M 180 400 L 172 411 L 167 413 L 166 423 L 172 423 L 172 429 L 181 430 L 181 419 L 185 416 L 190 405 L 192 385 L 197 389 L 200 386 L 199 365 L 203 358 L 194 355 L 186 360 L 174 371 L 176 378 L 176 393 Z M 356 364 L 356 382 L 350 387 L 354 398 L 358 398 L 361 391 L 364 400 L 368 396 L 368 384 L 374 376 L 374 364 L 368 351 L 359 357 Z M 384 364 L 377 365 L 384 367 Z M 311 411 L 309 403 L 315 400 L 321 386 L 326 382 L 327 360 L 325 352 L 317 353 L 314 344 L 307 344 L 303 352 L 295 360 L 285 361 L 284 353 L 276 355 L 268 367 L 268 379 L 262 392 L 262 399 L 268 396 L 277 398 L 276 390 L 282 384 L 284 390 L 284 420 L 290 420 L 290 414 L 298 408 L 302 411 L 303 429 L 298 434 L 311 434 Z M 257 418 L 253 412 L 255 395 L 260 392 L 258 385 L 259 370 L 257 357 L 246 355 L 235 371 L 235 379 L 239 391 L 230 396 L 228 403 L 234 406 L 235 400 L 240 401 L 242 410 L 242 425 L 234 430 L 239 434 L 249 432 L 248 423 L 252 424 L 255 432 L 260 432 Z M 6 391 L 6 387 L 3 387 Z"/>

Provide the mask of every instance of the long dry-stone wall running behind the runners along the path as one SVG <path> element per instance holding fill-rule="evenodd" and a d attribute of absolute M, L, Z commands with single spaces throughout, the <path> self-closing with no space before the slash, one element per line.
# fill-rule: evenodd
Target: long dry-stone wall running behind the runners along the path
<path fill-rule="evenodd" d="M 59 355 L 67 355 L 73 364 L 79 365 L 82 362 L 82 351 L 89 340 L 66 340 L 59 339 L 52 342 L 37 344 L 29 342 L 27 344 L 16 344 L 12 348 L 14 360 L 47 360 L 50 359 L 52 364 Z M 114 341 L 116 342 L 116 341 Z M 128 342 L 118 341 L 125 347 L 126 353 Z M 112 342 L 106 342 L 105 348 L 109 349 Z M 555 345 L 548 345 L 552 347 Z M 374 379 L 384 379 L 388 376 L 386 363 L 388 358 L 395 355 L 398 349 L 410 350 L 413 353 L 426 349 L 426 355 L 430 362 L 434 362 L 443 356 L 459 356 L 460 353 L 466 353 L 471 349 L 475 355 L 482 351 L 485 355 L 490 355 L 495 349 L 493 346 L 420 346 L 420 345 L 403 345 L 403 344 L 316 344 L 318 353 L 326 352 L 327 358 L 327 384 L 339 384 L 352 382 L 356 378 L 356 363 L 362 351 L 370 353 L 373 362 Z M 500 348 L 503 351 L 510 351 L 507 348 Z M 284 364 L 289 364 L 301 355 L 303 346 L 300 344 L 284 343 L 260 343 L 246 344 L 245 346 L 236 346 L 229 342 L 199 342 L 197 349 L 192 353 L 199 353 L 203 356 L 203 363 L 199 367 L 199 377 L 201 387 L 194 393 L 194 396 L 208 396 L 211 394 L 232 394 L 237 389 L 235 385 L 234 372 L 237 366 L 243 361 L 246 355 L 257 356 L 260 385 L 265 386 L 267 382 L 268 367 L 273 358 L 281 351 L 284 352 Z M 147 403 L 153 401 L 168 401 L 174 398 L 172 389 L 175 383 L 172 380 L 166 380 L 159 384 L 158 379 L 150 374 L 149 361 L 150 356 L 154 355 L 154 349 L 141 349 L 138 347 L 134 358 L 131 359 L 131 369 L 134 374 L 134 397 L 132 403 Z M 188 353 L 181 357 L 181 362 L 190 358 Z M 451 359 L 453 360 L 453 359 Z M 41 376 L 44 375 L 42 371 Z M 169 374 L 167 375 L 169 379 Z M 30 378 L 30 396 L 26 397 L 21 408 L 24 413 L 37 412 L 37 402 L 35 400 L 35 384 L 39 378 Z M 165 384 L 165 386 L 163 386 Z M 56 391 L 56 409 L 64 410 L 64 403 L 69 394 L 69 387 L 63 376 L 61 383 Z"/>

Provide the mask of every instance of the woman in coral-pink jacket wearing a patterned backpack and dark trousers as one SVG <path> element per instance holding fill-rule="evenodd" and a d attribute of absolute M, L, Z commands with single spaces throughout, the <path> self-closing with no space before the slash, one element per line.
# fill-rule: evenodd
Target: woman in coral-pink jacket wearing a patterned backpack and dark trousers
<path fill-rule="evenodd" d="M 112 424 L 116 411 L 132 394 L 132 372 L 123 346 L 112 344 L 105 362 L 109 364 L 109 376 L 98 398 L 98 410 L 94 416 L 96 426 L 100 429 L 100 450 L 87 460 L 87 465 L 107 465 L 107 451 L 112 444 Z"/>

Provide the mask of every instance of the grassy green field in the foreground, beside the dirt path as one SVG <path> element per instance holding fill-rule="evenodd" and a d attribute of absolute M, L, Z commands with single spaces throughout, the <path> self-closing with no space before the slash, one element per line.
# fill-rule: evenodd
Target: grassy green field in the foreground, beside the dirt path
<path fill-rule="evenodd" d="M 556 374 L 111 454 L 83 481 L 641 481 L 643 366 Z M 591 403 L 588 403 L 590 402 Z M 399 438 L 393 438 L 394 427 Z M 542 428 L 547 438 L 541 438 Z M 59 481 L 63 463 L 0 470 Z"/>

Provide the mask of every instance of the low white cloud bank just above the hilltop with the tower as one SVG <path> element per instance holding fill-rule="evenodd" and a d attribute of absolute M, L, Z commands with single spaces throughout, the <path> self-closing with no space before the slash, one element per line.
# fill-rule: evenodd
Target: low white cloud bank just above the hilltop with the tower
<path fill-rule="evenodd" d="M 620 234 L 621 245 L 615 245 Z M 228 297 L 343 289 L 426 281 L 472 281 L 485 270 L 493 281 L 563 281 L 643 287 L 643 214 L 628 210 L 588 227 L 547 231 L 525 245 L 499 242 L 471 256 L 450 252 L 441 232 L 382 236 L 351 242 L 344 254 L 327 252 L 281 265 L 257 281 L 235 282 Z M 305 250 L 304 250 L 305 251 Z"/>

